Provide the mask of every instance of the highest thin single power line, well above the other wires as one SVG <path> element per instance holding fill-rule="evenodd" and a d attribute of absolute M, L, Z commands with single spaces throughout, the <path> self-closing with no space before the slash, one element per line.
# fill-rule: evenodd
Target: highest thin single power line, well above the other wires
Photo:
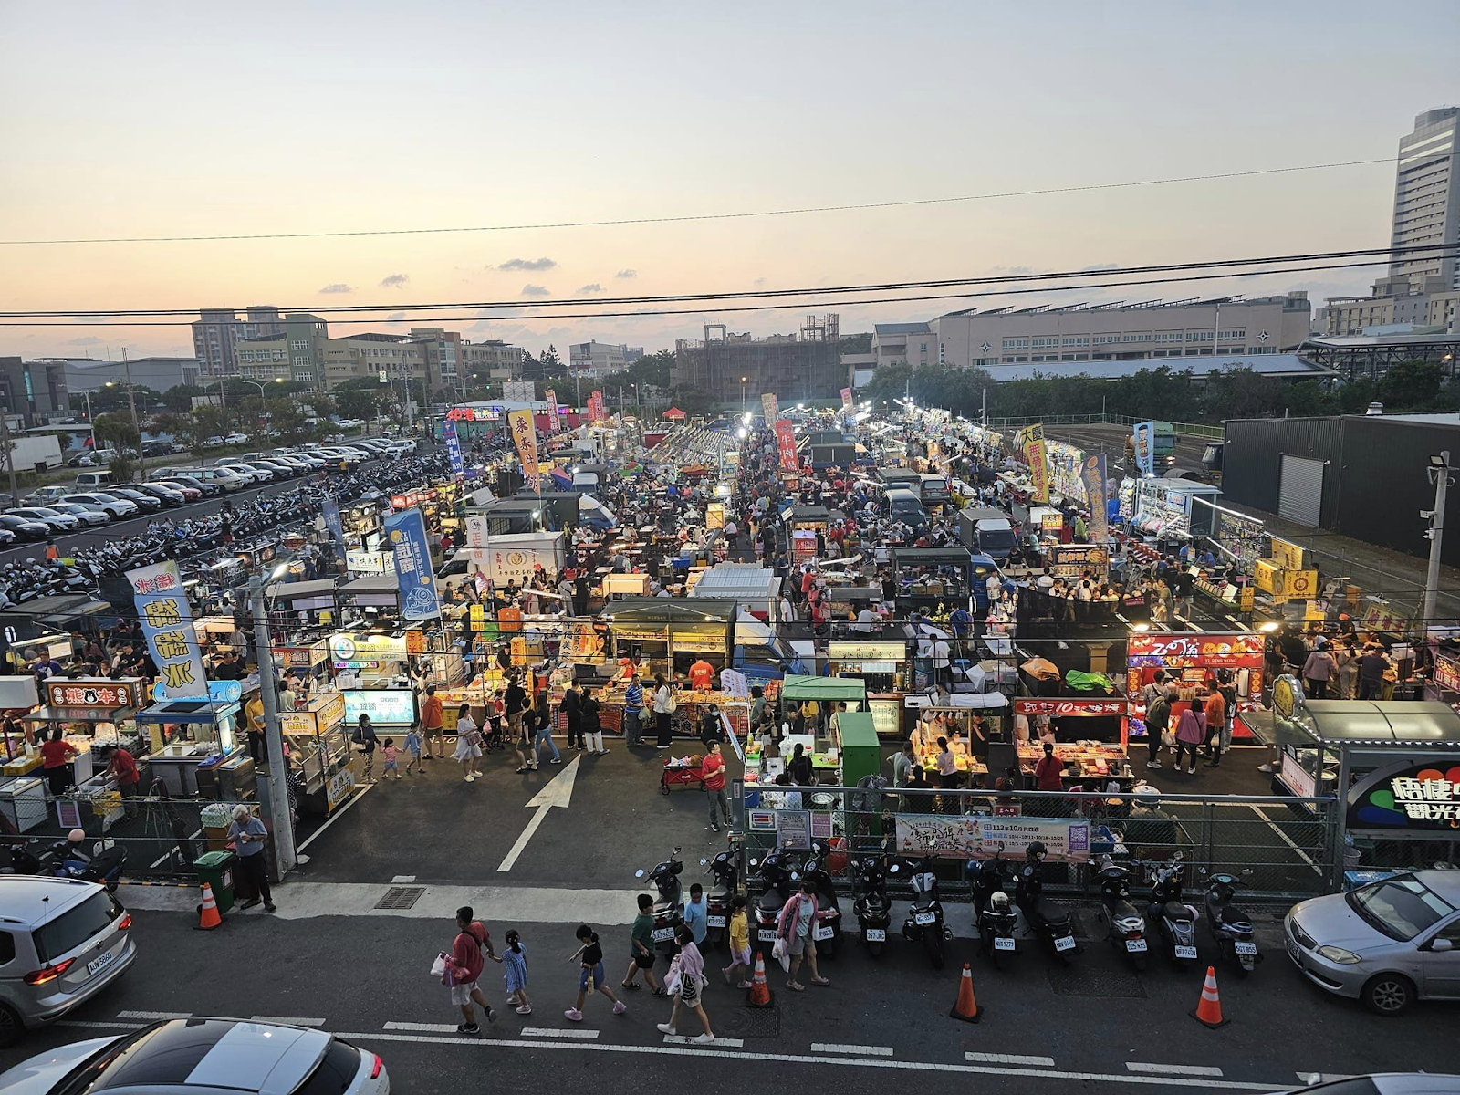
<path fill-rule="evenodd" d="M 1210 175 L 1178 175 L 1172 178 L 1142 178 L 1126 182 L 1086 182 L 1076 187 L 1042 187 L 1038 190 L 1004 190 L 988 194 L 959 194 L 953 197 L 923 197 L 898 201 L 860 201 L 841 206 L 799 206 L 791 209 L 756 209 L 740 213 L 685 213 L 680 216 L 638 216 L 618 218 L 609 220 L 556 220 L 523 225 L 477 225 L 456 228 L 366 228 L 340 232 L 235 232 L 216 235 L 153 235 L 153 237 L 74 237 L 54 239 L 0 239 L 3 247 L 42 247 L 58 244 L 193 244 L 209 241 L 239 241 L 239 239 L 331 239 L 343 237 L 371 235 L 447 235 L 453 232 L 526 232 L 552 228 L 615 228 L 620 225 L 669 225 L 692 220 L 739 220 L 762 216 L 799 216 L 803 213 L 848 213 L 867 209 L 898 209 L 912 206 L 945 206 L 961 201 L 991 201 L 1004 197 L 1041 197 L 1045 194 L 1079 194 L 1092 190 L 1126 190 L 1134 187 L 1164 187 L 1178 182 L 1210 182 L 1225 178 L 1253 178 L 1257 175 L 1288 175 L 1299 171 L 1332 171 L 1336 168 L 1368 166 L 1371 164 L 1394 164 L 1396 156 L 1377 156 L 1374 159 L 1348 159 L 1333 164 L 1299 164 L 1285 168 L 1257 168 L 1253 171 L 1222 171 Z"/>

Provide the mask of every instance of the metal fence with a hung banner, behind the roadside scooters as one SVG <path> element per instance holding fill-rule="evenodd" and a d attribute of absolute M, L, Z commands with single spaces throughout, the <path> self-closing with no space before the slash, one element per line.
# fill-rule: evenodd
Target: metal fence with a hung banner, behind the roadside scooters
<path fill-rule="evenodd" d="M 752 790 L 737 806 L 740 866 L 752 891 L 759 886 L 750 860 L 777 847 L 804 848 L 806 840 L 828 841 L 832 876 L 848 891 L 856 858 L 920 857 L 934 848 L 943 894 L 955 899 L 968 891 L 969 858 L 997 850 L 1022 860 L 1035 840 L 1050 848 L 1045 886 L 1089 896 L 1107 854 L 1130 864 L 1181 853 L 1187 885 L 1207 872 L 1232 872 L 1245 882 L 1242 898 L 1254 902 L 1327 894 L 1342 866 L 1334 799 L 775 787 Z"/>

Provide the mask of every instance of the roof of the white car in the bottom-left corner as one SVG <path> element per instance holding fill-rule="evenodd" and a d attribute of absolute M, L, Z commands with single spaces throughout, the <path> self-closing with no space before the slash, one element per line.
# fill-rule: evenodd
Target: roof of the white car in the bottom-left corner
<path fill-rule="evenodd" d="M 288 1095 L 328 1048 L 324 1031 L 239 1019 L 171 1019 L 140 1031 L 88 1091 L 234 1089 Z"/>

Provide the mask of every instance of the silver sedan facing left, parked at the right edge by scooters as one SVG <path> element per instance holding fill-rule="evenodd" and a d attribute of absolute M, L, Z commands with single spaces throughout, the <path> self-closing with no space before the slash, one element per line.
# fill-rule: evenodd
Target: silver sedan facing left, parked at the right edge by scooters
<path fill-rule="evenodd" d="M 1378 1015 L 1460 1000 L 1460 872 L 1416 870 L 1299 901 L 1283 936 L 1310 981 Z"/>

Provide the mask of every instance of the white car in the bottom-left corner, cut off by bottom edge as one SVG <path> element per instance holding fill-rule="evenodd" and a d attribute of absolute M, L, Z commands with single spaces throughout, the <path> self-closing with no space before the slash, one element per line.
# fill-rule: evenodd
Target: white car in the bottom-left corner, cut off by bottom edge
<path fill-rule="evenodd" d="M 168 1019 L 120 1038 L 88 1038 L 36 1054 L 0 1073 L 0 1091 L 390 1095 L 390 1077 L 377 1054 L 324 1031 L 244 1019 Z"/>

